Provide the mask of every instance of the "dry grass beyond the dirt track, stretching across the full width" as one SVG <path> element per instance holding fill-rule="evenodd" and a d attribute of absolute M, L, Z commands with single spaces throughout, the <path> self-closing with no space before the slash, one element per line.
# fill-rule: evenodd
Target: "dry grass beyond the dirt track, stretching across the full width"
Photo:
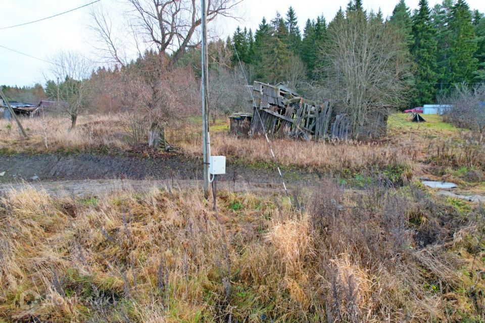
<path fill-rule="evenodd" d="M 283 166 L 351 177 L 356 173 L 374 173 L 400 167 L 405 170 L 404 182 L 413 175 L 421 176 L 429 172 L 441 176 L 450 172 L 443 171 L 446 168 L 485 166 L 479 161 L 482 157 L 485 159 L 482 142 L 464 139 L 465 133 L 437 118 L 427 123 L 428 127 L 416 126 L 406 118 L 402 114 L 392 116 L 389 137 L 379 141 L 303 142 L 275 139 L 272 141 L 273 150 Z M 20 139 L 15 124 L 0 119 L 0 152 L 110 153 L 130 150 L 135 145 L 127 125 L 129 119 L 124 114 L 81 116 L 73 131 L 68 131 L 69 120 L 65 118 L 22 119 L 29 134 L 26 140 Z M 228 121 L 225 119 L 217 120 L 212 125 L 213 154 L 223 154 L 230 161 L 255 167 L 267 167 L 273 163 L 264 138 L 237 138 L 230 136 L 227 131 Z M 201 157 L 200 119 L 192 118 L 167 125 L 166 137 L 179 153 Z"/>

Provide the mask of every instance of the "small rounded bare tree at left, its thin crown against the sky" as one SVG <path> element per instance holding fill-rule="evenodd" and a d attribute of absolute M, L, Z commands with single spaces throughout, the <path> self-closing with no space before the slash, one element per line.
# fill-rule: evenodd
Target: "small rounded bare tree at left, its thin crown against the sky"
<path fill-rule="evenodd" d="M 85 114 L 89 107 L 91 62 L 78 53 L 64 51 L 58 52 L 51 62 L 51 73 L 62 80 L 57 85 L 59 110 L 71 120 L 73 129 L 78 116 Z"/>

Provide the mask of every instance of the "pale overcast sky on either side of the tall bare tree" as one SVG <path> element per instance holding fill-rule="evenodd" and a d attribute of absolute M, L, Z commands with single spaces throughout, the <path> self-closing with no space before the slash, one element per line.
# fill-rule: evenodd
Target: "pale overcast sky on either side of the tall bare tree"
<path fill-rule="evenodd" d="M 32 20 L 52 16 L 67 11 L 92 0 L 1 0 L 0 28 L 16 25 Z M 120 0 L 117 0 L 118 3 Z M 364 0 L 364 9 L 382 10 L 384 17 L 390 16 L 398 0 Z M 411 10 L 415 9 L 419 0 L 406 0 Z M 429 0 L 430 7 L 437 0 Z M 101 0 L 94 6 L 113 6 L 115 0 Z M 300 29 L 308 18 L 315 19 L 323 14 L 327 23 L 333 18 L 338 8 L 346 8 L 348 0 L 245 0 L 235 11 L 241 20 L 224 18 L 216 22 L 217 32 L 221 37 L 232 34 L 237 25 L 247 26 L 255 30 L 264 17 L 271 20 L 278 10 L 284 15 L 289 6 L 293 6 L 300 23 Z M 471 9 L 485 11 L 485 1 L 468 0 Z M 67 13 L 65 15 L 29 24 L 26 26 L 0 30 L 0 45 L 30 56 L 47 60 L 59 50 L 73 50 L 83 55 L 98 59 L 93 45 L 94 34 L 89 29 L 90 17 L 88 7 Z M 49 64 L 14 51 L 0 47 L 0 84 L 33 85 L 36 82 L 45 84 L 49 77 Z"/>

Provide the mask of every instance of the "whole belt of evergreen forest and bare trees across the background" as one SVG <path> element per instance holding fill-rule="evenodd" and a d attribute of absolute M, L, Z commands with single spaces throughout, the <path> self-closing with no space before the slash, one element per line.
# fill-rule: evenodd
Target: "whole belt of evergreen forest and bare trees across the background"
<path fill-rule="evenodd" d="M 323 15 L 308 19 L 302 31 L 290 7 L 284 15 L 276 12 L 271 20 L 263 18 L 255 31 L 237 27 L 225 40 L 212 39 L 208 51 L 214 111 L 248 109 L 248 93 L 240 91 L 246 85 L 241 66 L 249 83 L 283 82 L 313 99 L 340 100 L 347 112 L 349 105 L 360 109 L 366 102 L 373 110 L 403 110 L 443 100 L 457 87 L 485 82 L 485 15 L 472 11 L 465 0 L 443 0 L 433 8 L 420 0 L 413 12 L 400 0 L 392 15 L 384 18 L 380 9 L 367 12 L 362 0 L 352 0 L 330 22 Z M 103 113 L 138 102 L 158 106 L 159 98 L 179 93 L 175 96 L 189 99 L 177 100 L 177 110 L 183 105 L 198 111 L 200 48 L 188 46 L 176 59 L 162 52 L 165 58 L 156 58 L 158 50 L 149 49 L 126 64 L 91 66 L 92 72 L 82 77 L 90 83 L 83 109 Z M 64 79 L 69 80 L 64 72 L 56 75 L 61 88 Z M 180 75 L 188 77 L 190 85 L 179 84 Z M 45 97 L 55 100 L 58 92 L 54 81 L 47 81 L 44 90 L 38 84 L 3 88 L 10 99 L 32 103 Z M 131 93 L 129 88 L 140 90 Z M 366 90 L 358 92 L 359 88 Z M 143 91 L 147 93 L 140 94 Z"/>

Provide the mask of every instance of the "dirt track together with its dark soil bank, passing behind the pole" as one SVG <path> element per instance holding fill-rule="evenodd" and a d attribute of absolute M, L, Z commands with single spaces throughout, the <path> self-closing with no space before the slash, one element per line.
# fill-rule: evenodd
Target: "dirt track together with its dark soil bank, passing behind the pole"
<path fill-rule="evenodd" d="M 99 194 L 122 187 L 139 191 L 153 186 L 202 186 L 202 163 L 178 154 L 151 158 L 87 153 L 0 155 L 0 174 L 3 172 L 0 191 L 25 183 L 70 195 Z M 285 174 L 290 189 L 315 185 L 319 177 L 317 173 L 299 170 Z M 276 170 L 228 163 L 226 175 L 218 177 L 218 187 L 236 191 L 279 190 L 281 182 Z"/>

